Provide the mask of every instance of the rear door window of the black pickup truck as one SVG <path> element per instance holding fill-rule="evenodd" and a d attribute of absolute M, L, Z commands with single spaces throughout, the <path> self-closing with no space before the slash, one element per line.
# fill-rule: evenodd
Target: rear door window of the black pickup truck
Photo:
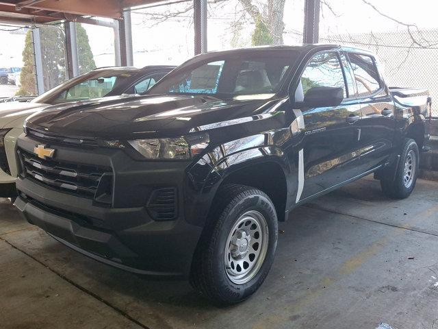
<path fill-rule="evenodd" d="M 370 56 L 349 53 L 351 67 L 357 84 L 359 97 L 371 95 L 380 88 L 380 78 L 374 60 Z"/>

